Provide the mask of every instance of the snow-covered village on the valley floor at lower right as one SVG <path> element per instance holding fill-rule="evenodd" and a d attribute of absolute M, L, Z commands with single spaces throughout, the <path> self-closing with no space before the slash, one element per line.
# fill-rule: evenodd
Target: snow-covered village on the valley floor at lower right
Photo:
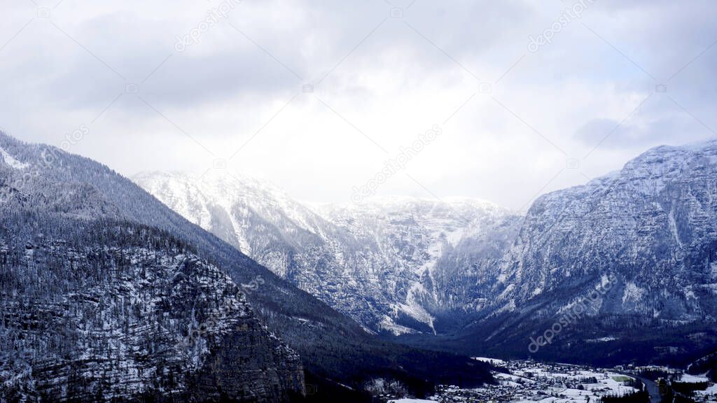
<path fill-rule="evenodd" d="M 538 361 L 503 361 L 478 357 L 495 367 L 496 384 L 476 389 L 442 386 L 427 399 L 396 403 L 613 403 L 717 402 L 717 385 L 706 376 L 683 374 L 665 366 L 590 366 Z"/>

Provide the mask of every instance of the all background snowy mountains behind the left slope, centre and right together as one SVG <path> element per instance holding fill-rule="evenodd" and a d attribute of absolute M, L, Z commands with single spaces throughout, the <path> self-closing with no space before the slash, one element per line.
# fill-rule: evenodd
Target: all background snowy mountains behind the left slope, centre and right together
<path fill-rule="evenodd" d="M 582 350 L 538 354 L 659 361 L 717 344 L 717 141 L 653 148 L 540 196 L 525 217 L 469 199 L 312 207 L 224 171 L 135 180 L 371 331 L 416 346 L 527 356 L 531 337 L 577 305 L 584 313 L 558 338 Z"/>

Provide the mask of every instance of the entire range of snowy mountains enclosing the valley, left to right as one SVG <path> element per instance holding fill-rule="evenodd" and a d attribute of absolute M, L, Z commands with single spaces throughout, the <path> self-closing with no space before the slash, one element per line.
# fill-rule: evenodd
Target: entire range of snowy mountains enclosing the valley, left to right
<path fill-rule="evenodd" d="M 377 379 L 490 381 L 469 354 L 686 365 L 717 346 L 717 141 L 524 217 L 314 206 L 227 171 L 136 176 L 145 191 L 5 135 L 0 158 L 7 399 L 362 402 Z"/>

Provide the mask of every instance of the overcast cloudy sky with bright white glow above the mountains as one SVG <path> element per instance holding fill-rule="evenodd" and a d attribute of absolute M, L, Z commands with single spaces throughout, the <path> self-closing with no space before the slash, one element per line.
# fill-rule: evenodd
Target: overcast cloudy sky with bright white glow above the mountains
<path fill-rule="evenodd" d="M 521 209 L 716 136 L 713 0 L 1 1 L 0 127 L 127 176 Z"/>

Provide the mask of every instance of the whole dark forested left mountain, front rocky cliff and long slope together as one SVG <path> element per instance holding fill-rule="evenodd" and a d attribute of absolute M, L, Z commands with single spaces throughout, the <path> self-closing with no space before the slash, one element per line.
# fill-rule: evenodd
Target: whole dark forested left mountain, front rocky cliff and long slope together
<path fill-rule="evenodd" d="M 0 150 L 6 396 L 364 402 L 373 379 L 491 379 L 371 336 L 100 163 L 4 133 Z"/>

